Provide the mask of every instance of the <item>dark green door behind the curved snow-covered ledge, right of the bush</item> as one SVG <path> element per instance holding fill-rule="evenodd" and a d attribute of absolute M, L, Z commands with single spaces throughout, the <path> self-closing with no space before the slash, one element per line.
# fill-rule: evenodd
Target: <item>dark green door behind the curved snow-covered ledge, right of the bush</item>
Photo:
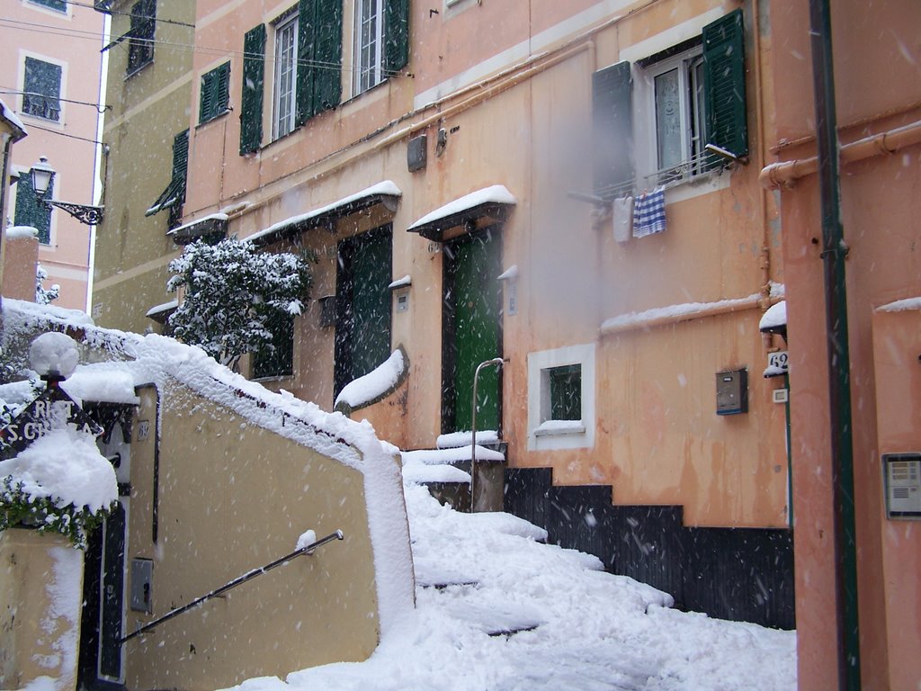
<path fill-rule="evenodd" d="M 391 355 L 391 227 L 339 243 L 335 393 Z"/>

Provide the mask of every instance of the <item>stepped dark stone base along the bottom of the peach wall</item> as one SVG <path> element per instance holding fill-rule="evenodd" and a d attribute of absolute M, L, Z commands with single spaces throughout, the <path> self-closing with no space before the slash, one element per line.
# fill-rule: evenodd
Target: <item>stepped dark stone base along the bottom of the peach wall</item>
<path fill-rule="evenodd" d="M 508 468 L 505 510 L 548 542 L 666 591 L 675 606 L 765 627 L 796 627 L 793 531 L 688 528 L 679 506 L 613 506 L 611 486 L 554 486 L 549 468 Z"/>

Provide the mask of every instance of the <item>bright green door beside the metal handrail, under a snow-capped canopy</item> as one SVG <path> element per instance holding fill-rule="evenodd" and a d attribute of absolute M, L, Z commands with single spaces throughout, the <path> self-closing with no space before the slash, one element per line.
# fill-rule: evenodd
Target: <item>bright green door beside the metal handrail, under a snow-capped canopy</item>
<path fill-rule="evenodd" d="M 477 365 L 502 355 L 501 238 L 495 228 L 444 246 L 442 431 L 472 427 Z M 477 384 L 477 429 L 499 429 L 501 371 L 484 368 Z"/>

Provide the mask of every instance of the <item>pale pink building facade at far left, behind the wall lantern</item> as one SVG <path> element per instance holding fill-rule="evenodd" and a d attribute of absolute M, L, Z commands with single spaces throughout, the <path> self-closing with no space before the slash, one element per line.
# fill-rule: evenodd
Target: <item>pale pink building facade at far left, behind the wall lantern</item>
<path fill-rule="evenodd" d="M 11 0 L 0 22 L 0 91 L 29 132 L 14 148 L 2 222 L 38 228 L 44 287 L 60 286 L 54 304 L 80 310 L 87 309 L 91 228 L 43 208 L 28 173 L 46 157 L 56 171 L 52 199 L 93 203 L 102 29 L 98 12 L 63 0 Z"/>

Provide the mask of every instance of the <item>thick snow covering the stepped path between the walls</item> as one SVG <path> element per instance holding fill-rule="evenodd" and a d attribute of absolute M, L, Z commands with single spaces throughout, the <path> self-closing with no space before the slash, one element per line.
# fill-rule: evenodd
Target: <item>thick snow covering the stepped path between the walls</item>
<path fill-rule="evenodd" d="M 796 688 L 794 632 L 669 609 L 665 593 L 543 545 L 541 529 L 505 513 L 459 513 L 412 484 L 406 503 L 414 613 L 367 662 L 239 691 Z"/>

